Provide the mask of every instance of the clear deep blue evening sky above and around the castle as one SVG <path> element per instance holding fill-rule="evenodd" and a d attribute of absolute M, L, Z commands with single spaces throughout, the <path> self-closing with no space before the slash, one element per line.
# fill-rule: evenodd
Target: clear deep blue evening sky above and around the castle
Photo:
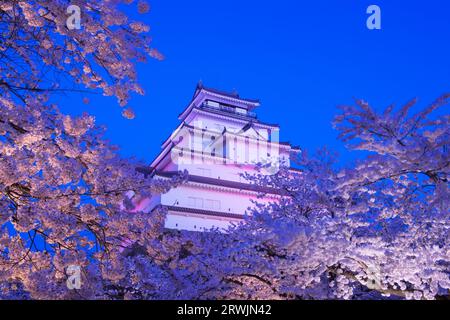
<path fill-rule="evenodd" d="M 152 0 L 141 16 L 166 59 L 138 66 L 146 90 L 121 116 L 110 97 L 58 97 L 64 112 L 88 111 L 125 156 L 149 163 L 178 125 L 201 79 L 258 98 L 259 119 L 281 126 L 281 140 L 323 145 L 352 159 L 331 121 L 353 97 L 376 108 L 413 97 L 425 105 L 450 90 L 450 2 L 404 0 Z M 366 28 L 366 8 L 381 8 L 382 29 Z"/>

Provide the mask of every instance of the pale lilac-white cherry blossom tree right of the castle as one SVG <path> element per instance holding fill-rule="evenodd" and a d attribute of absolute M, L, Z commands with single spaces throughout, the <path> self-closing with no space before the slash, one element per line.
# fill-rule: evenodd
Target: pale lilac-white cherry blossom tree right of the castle
<path fill-rule="evenodd" d="M 280 190 L 280 201 L 230 233 L 233 263 L 217 265 L 220 283 L 252 299 L 448 297 L 449 97 L 409 117 L 415 100 L 382 114 L 357 101 L 335 121 L 352 149 L 368 152 L 354 167 L 336 169 L 322 150 L 300 156 L 301 173 L 249 177 Z"/>

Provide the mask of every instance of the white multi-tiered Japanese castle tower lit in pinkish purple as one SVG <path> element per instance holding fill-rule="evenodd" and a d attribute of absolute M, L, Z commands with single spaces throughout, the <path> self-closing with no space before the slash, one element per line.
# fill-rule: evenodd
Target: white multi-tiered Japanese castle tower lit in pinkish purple
<path fill-rule="evenodd" d="M 179 115 L 180 125 L 151 164 L 155 178 L 189 172 L 187 183 L 151 201 L 152 208 L 168 209 L 167 228 L 226 228 L 243 219 L 252 200 L 277 200 L 274 190 L 257 188 L 242 174 L 256 173 L 258 163 L 270 164 L 265 174 L 273 174 L 280 164 L 289 166 L 290 154 L 300 150 L 279 142 L 278 125 L 258 120 L 254 110 L 259 105 L 237 93 L 197 86 Z"/>

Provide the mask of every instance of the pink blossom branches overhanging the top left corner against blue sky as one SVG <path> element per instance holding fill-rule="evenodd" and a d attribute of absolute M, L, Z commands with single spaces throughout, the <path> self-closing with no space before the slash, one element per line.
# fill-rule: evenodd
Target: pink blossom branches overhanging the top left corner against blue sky
<path fill-rule="evenodd" d="M 126 106 L 143 94 L 135 62 L 161 59 L 149 27 L 121 11 L 133 0 L 5 0 L 0 3 L 0 94 L 24 102 L 28 94 L 100 90 Z M 71 28 L 69 6 L 80 10 Z M 129 9 L 131 10 L 131 9 Z M 149 10 L 137 1 L 137 10 Z M 125 117 L 134 116 L 131 109 Z"/>

